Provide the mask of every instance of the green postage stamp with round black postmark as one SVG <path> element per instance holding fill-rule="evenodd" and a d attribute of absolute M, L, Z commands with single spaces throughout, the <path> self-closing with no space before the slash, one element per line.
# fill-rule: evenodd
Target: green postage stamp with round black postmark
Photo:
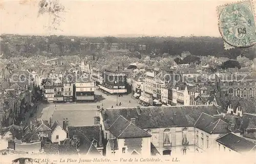
<path fill-rule="evenodd" d="M 217 12 L 225 49 L 247 48 L 256 43 L 253 2 L 242 1 L 219 6 Z"/>

